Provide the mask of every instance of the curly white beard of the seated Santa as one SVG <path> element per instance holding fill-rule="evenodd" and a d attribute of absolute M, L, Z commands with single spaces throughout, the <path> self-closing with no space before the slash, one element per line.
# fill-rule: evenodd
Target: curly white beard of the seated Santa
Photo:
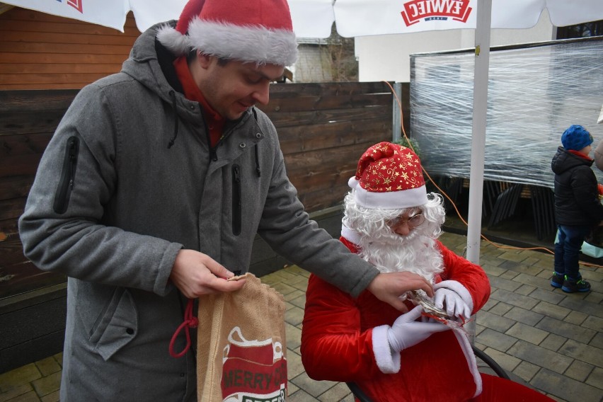
<path fill-rule="evenodd" d="M 433 282 L 435 275 L 443 270 L 442 254 L 435 240 L 421 234 L 420 229 L 421 226 L 413 229 L 408 236 L 391 231 L 381 234 L 379 239 L 362 236 L 357 244 L 359 255 L 380 272 L 414 272 Z"/>

